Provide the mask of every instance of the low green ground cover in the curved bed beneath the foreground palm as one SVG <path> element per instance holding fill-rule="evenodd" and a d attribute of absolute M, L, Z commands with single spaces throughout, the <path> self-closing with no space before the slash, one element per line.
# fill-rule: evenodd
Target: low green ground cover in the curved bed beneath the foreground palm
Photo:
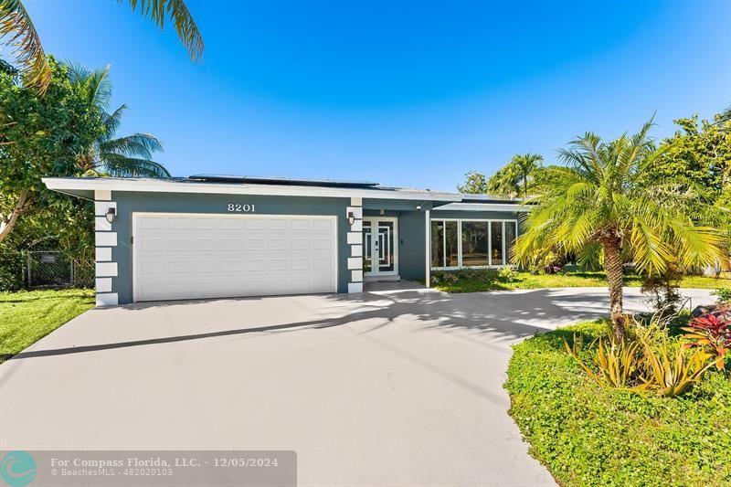
<path fill-rule="evenodd" d="M 563 338 L 606 331 L 581 323 L 514 345 L 505 388 L 535 459 L 562 485 L 731 485 L 731 381 L 709 371 L 675 398 L 603 388 Z"/>

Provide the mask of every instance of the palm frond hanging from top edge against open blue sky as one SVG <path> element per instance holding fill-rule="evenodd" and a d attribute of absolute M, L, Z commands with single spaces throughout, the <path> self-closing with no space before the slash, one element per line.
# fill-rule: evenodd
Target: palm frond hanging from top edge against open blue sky
<path fill-rule="evenodd" d="M 117 3 L 122 4 L 124 0 L 117 0 Z M 161 29 L 170 17 L 175 24 L 177 37 L 187 49 L 191 60 L 197 61 L 203 56 L 203 37 L 183 0 L 127 0 L 127 3 L 132 6 L 133 12 L 139 6 L 142 15 L 149 17 Z"/>

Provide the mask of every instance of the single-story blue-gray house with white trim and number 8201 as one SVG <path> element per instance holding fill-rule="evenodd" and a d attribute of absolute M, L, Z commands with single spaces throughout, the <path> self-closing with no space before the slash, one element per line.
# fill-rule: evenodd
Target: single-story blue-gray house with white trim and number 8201
<path fill-rule="evenodd" d="M 94 201 L 98 305 L 361 292 L 507 265 L 525 207 L 373 183 L 249 176 L 46 178 Z"/>

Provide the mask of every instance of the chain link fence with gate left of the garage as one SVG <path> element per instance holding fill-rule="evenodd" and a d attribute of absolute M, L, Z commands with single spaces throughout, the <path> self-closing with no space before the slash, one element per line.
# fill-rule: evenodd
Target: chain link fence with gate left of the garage
<path fill-rule="evenodd" d="M 90 288 L 94 285 L 93 260 L 69 259 L 62 252 L 26 252 L 26 286 L 38 288 Z"/>

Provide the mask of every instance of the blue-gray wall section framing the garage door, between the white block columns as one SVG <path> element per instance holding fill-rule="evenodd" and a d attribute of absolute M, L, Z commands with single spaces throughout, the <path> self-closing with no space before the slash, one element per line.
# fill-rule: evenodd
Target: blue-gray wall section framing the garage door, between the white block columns
<path fill-rule="evenodd" d="M 241 196 L 197 195 L 175 193 L 128 193 L 113 192 L 111 199 L 117 204 L 117 218 L 111 230 L 117 232 L 117 246 L 111 249 L 111 258 L 117 263 L 118 275 L 112 279 L 112 292 L 118 294 L 119 303 L 132 302 L 132 213 L 204 213 L 230 215 L 229 203 L 256 205 L 257 215 L 328 215 L 337 217 L 338 232 L 338 292 L 348 291 L 350 270 L 347 259 L 349 229 L 346 207 L 349 198 L 302 197 L 302 196 Z"/>

